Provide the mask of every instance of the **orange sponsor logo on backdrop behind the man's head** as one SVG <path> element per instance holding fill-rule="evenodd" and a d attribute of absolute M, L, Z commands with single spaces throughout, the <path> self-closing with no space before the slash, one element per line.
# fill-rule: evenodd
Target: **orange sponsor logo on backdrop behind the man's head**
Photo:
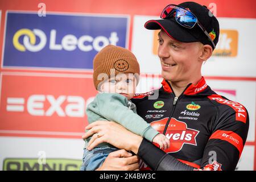
<path fill-rule="evenodd" d="M 152 53 L 158 55 L 158 32 L 154 31 Z M 213 56 L 235 57 L 238 51 L 238 31 L 237 30 L 220 30 L 220 36 Z"/>

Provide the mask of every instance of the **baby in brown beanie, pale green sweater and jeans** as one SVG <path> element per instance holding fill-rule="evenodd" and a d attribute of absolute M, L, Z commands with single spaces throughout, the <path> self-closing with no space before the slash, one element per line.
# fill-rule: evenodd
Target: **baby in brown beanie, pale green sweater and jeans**
<path fill-rule="evenodd" d="M 137 114 L 135 104 L 130 101 L 135 95 L 139 72 L 138 61 L 128 49 L 109 45 L 98 52 L 93 60 L 93 81 L 99 93 L 86 108 L 88 122 L 117 122 L 166 150 L 170 140 L 144 121 Z M 109 143 L 101 143 L 89 151 L 86 149 L 89 140 L 85 140 L 82 171 L 99 168 L 110 152 L 118 150 Z"/>

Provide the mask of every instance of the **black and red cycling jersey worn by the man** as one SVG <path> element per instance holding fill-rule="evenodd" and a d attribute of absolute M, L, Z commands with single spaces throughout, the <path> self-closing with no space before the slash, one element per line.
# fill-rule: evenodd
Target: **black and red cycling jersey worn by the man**
<path fill-rule="evenodd" d="M 158 96 L 158 97 L 157 97 Z M 156 97 L 156 98 L 154 98 Z M 170 139 L 162 151 L 146 139 L 139 146 L 140 169 L 234 170 L 249 130 L 249 115 L 238 102 L 213 92 L 204 77 L 176 97 L 168 81 L 136 94 L 137 113 Z"/>

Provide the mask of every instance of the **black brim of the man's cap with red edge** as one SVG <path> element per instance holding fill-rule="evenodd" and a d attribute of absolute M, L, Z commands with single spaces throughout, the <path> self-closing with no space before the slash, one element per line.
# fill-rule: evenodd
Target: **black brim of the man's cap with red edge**
<path fill-rule="evenodd" d="M 175 20 L 174 20 L 175 21 Z M 163 29 L 168 36 L 178 40 L 179 42 L 199 42 L 194 36 L 189 33 L 189 28 L 185 28 L 177 24 L 171 19 L 148 20 L 144 27 L 148 30 Z"/>

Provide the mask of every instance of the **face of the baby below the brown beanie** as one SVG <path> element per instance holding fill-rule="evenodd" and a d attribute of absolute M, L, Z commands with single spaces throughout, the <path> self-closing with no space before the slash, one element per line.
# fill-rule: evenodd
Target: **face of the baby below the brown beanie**
<path fill-rule="evenodd" d="M 101 92 L 119 93 L 127 97 L 133 98 L 136 92 L 137 79 L 133 73 L 119 73 L 113 78 L 109 78 L 101 85 Z"/>

